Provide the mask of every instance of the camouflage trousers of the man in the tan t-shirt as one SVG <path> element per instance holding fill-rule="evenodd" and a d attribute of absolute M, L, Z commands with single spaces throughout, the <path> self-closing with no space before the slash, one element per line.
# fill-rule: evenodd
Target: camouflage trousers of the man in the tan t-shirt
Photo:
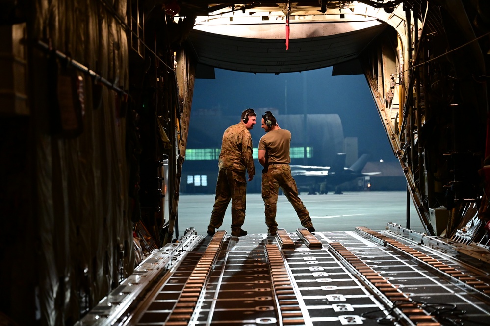
<path fill-rule="evenodd" d="M 262 171 L 262 199 L 265 204 L 265 224 L 271 231 L 277 230 L 276 212 L 279 188 L 293 205 L 303 227 L 313 226 L 303 201 L 299 198 L 296 181 L 291 176 L 289 164 L 273 164 Z"/>

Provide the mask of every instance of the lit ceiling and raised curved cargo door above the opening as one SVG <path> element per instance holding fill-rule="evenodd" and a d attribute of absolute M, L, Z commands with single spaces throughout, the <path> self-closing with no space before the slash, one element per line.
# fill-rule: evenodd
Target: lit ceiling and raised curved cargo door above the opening
<path fill-rule="evenodd" d="M 197 77 L 205 67 L 279 74 L 334 66 L 334 74 L 360 74 L 361 52 L 387 27 L 403 25 L 400 3 L 183 1 L 175 20 L 196 16 L 189 44 Z"/>

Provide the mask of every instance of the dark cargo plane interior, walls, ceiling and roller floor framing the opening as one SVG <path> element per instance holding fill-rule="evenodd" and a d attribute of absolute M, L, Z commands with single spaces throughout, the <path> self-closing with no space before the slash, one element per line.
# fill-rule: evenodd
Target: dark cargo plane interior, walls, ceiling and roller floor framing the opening
<path fill-rule="evenodd" d="M 488 0 L 1 3 L 0 324 L 377 325 L 366 304 L 393 325 L 487 325 Z M 425 232 L 176 233 L 195 80 L 325 67 L 365 76 Z M 470 296 L 471 316 L 431 313 L 363 259 L 375 249 Z M 302 288 L 292 261 L 309 254 Z M 331 285 L 324 258 L 370 301 Z"/>

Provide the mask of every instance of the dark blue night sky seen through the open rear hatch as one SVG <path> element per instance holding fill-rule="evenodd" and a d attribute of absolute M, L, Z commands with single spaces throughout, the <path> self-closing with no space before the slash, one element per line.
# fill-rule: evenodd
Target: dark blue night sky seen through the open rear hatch
<path fill-rule="evenodd" d="M 216 79 L 196 79 L 192 112 L 217 109 L 236 115 L 238 122 L 240 113 L 250 107 L 258 115 L 252 132 L 260 133 L 261 115 L 270 108 L 280 114 L 336 113 L 344 137 L 358 138 L 359 155 L 369 153 L 371 161 L 396 161 L 364 75 L 332 76 L 332 67 L 279 75 L 215 69 L 215 75 Z M 191 114 L 189 132 L 197 123 Z M 216 130 L 219 137 L 223 131 Z"/>

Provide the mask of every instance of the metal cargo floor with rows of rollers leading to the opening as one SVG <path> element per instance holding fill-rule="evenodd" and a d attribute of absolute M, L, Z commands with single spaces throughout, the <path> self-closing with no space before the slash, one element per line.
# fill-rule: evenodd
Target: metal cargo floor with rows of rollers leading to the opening
<path fill-rule="evenodd" d="M 374 231 L 197 235 L 143 261 L 77 325 L 489 325 L 488 256 Z"/>

